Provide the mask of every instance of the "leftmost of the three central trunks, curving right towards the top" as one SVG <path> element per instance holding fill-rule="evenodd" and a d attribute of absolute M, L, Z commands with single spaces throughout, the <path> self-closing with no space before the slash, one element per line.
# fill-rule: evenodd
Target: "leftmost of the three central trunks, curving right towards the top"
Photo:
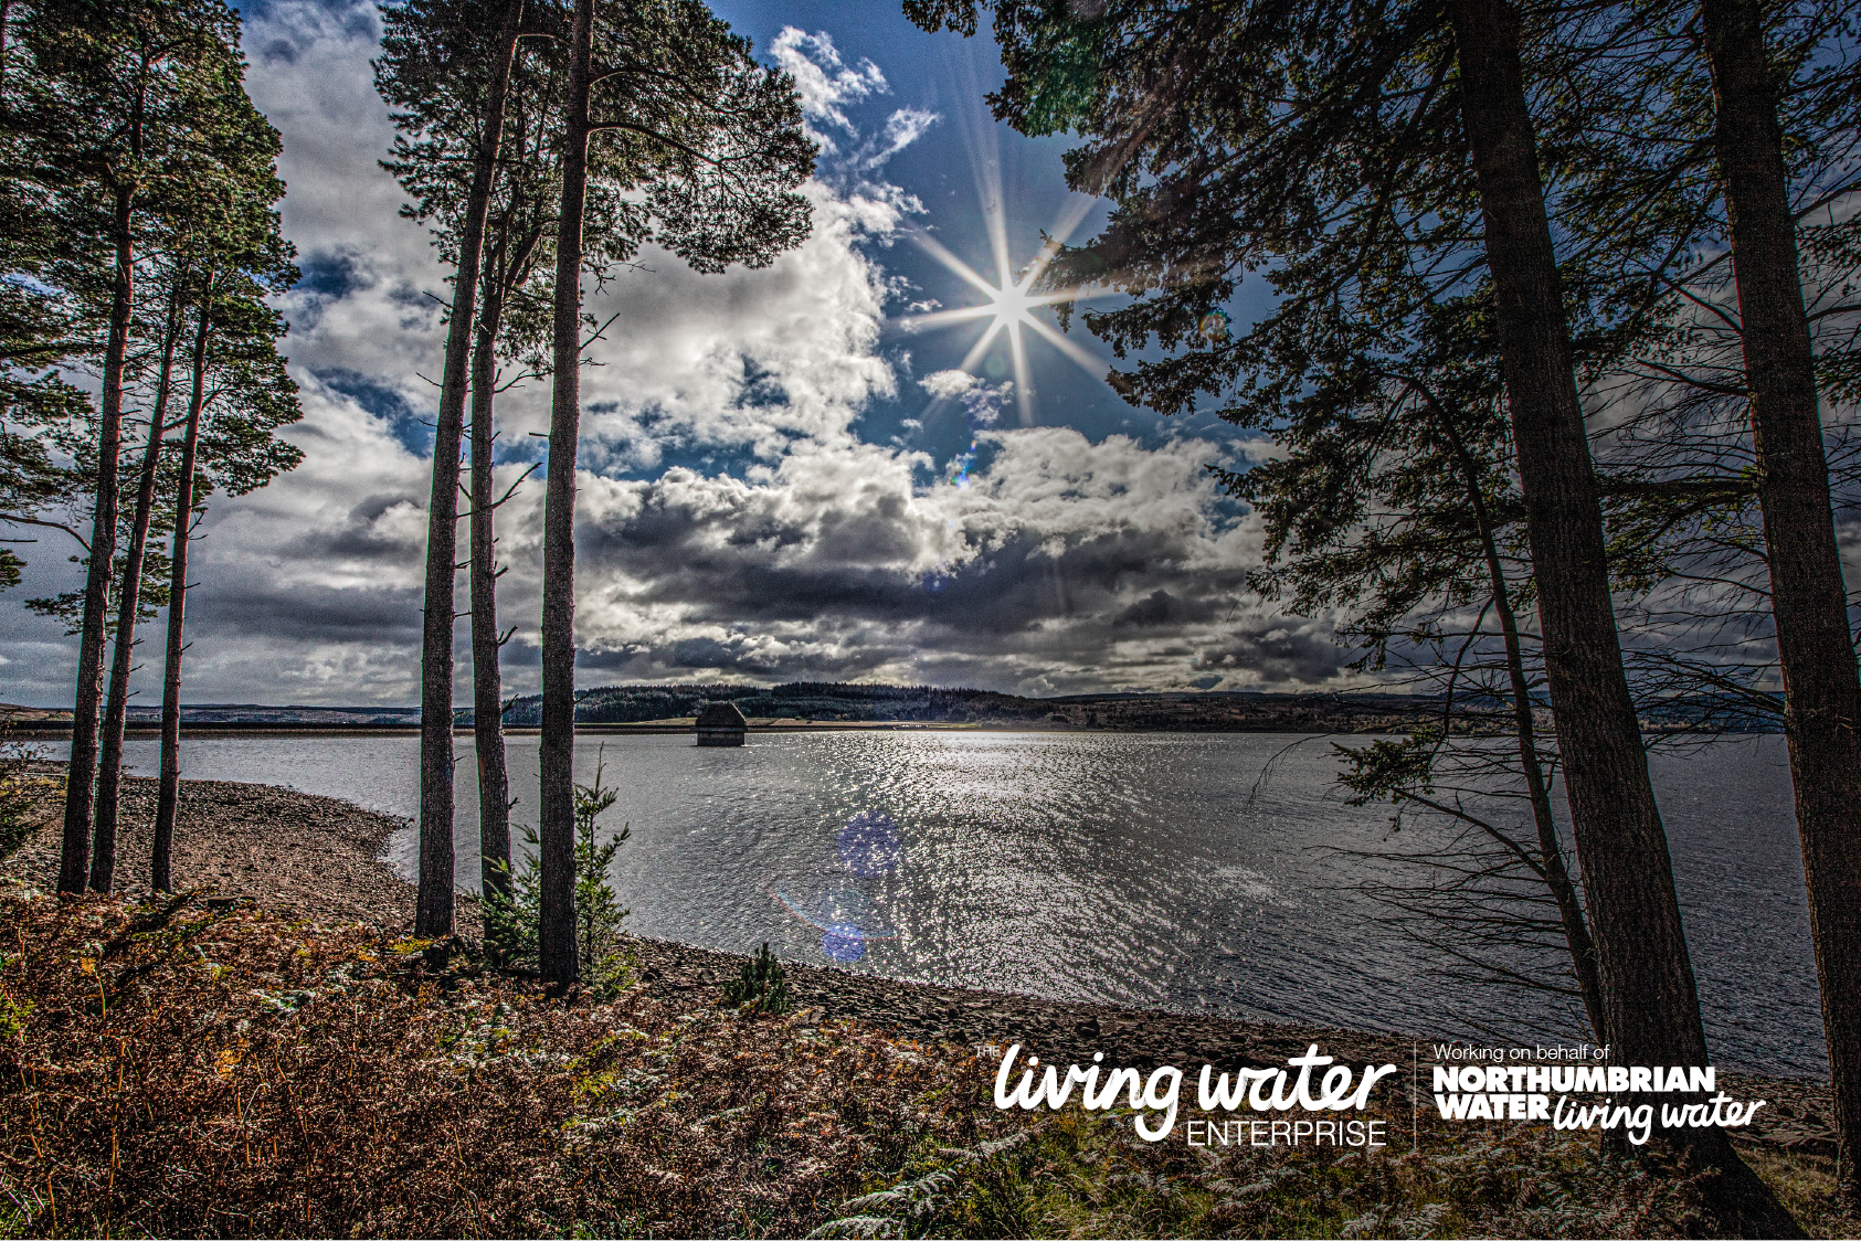
<path fill-rule="evenodd" d="M 504 136 L 504 95 L 521 19 L 521 2 L 510 0 L 499 32 L 497 65 L 460 227 L 460 266 L 452 281 L 452 322 L 447 327 L 439 419 L 434 428 L 434 489 L 426 504 L 426 618 L 421 627 L 421 887 L 415 899 L 413 934 L 432 940 L 452 934 L 452 590 L 458 575 L 465 372 L 476 318 L 484 220 L 491 207 L 497 147 Z"/>

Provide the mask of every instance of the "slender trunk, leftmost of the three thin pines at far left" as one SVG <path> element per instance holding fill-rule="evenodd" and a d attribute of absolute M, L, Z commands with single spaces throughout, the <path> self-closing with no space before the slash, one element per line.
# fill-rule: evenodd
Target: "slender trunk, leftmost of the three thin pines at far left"
<path fill-rule="evenodd" d="M 117 456 L 123 450 L 123 354 L 136 298 L 136 253 L 130 236 L 130 186 L 115 190 L 115 288 L 104 340 L 104 391 L 97 428 L 97 508 L 91 514 L 91 560 L 84 573 L 84 620 L 78 629 L 78 687 L 71 703 L 71 763 L 65 770 L 65 839 L 58 891 L 84 891 L 91 861 L 91 793 L 97 781 L 97 703 L 104 679 L 104 629 L 110 573 L 115 567 Z"/>

